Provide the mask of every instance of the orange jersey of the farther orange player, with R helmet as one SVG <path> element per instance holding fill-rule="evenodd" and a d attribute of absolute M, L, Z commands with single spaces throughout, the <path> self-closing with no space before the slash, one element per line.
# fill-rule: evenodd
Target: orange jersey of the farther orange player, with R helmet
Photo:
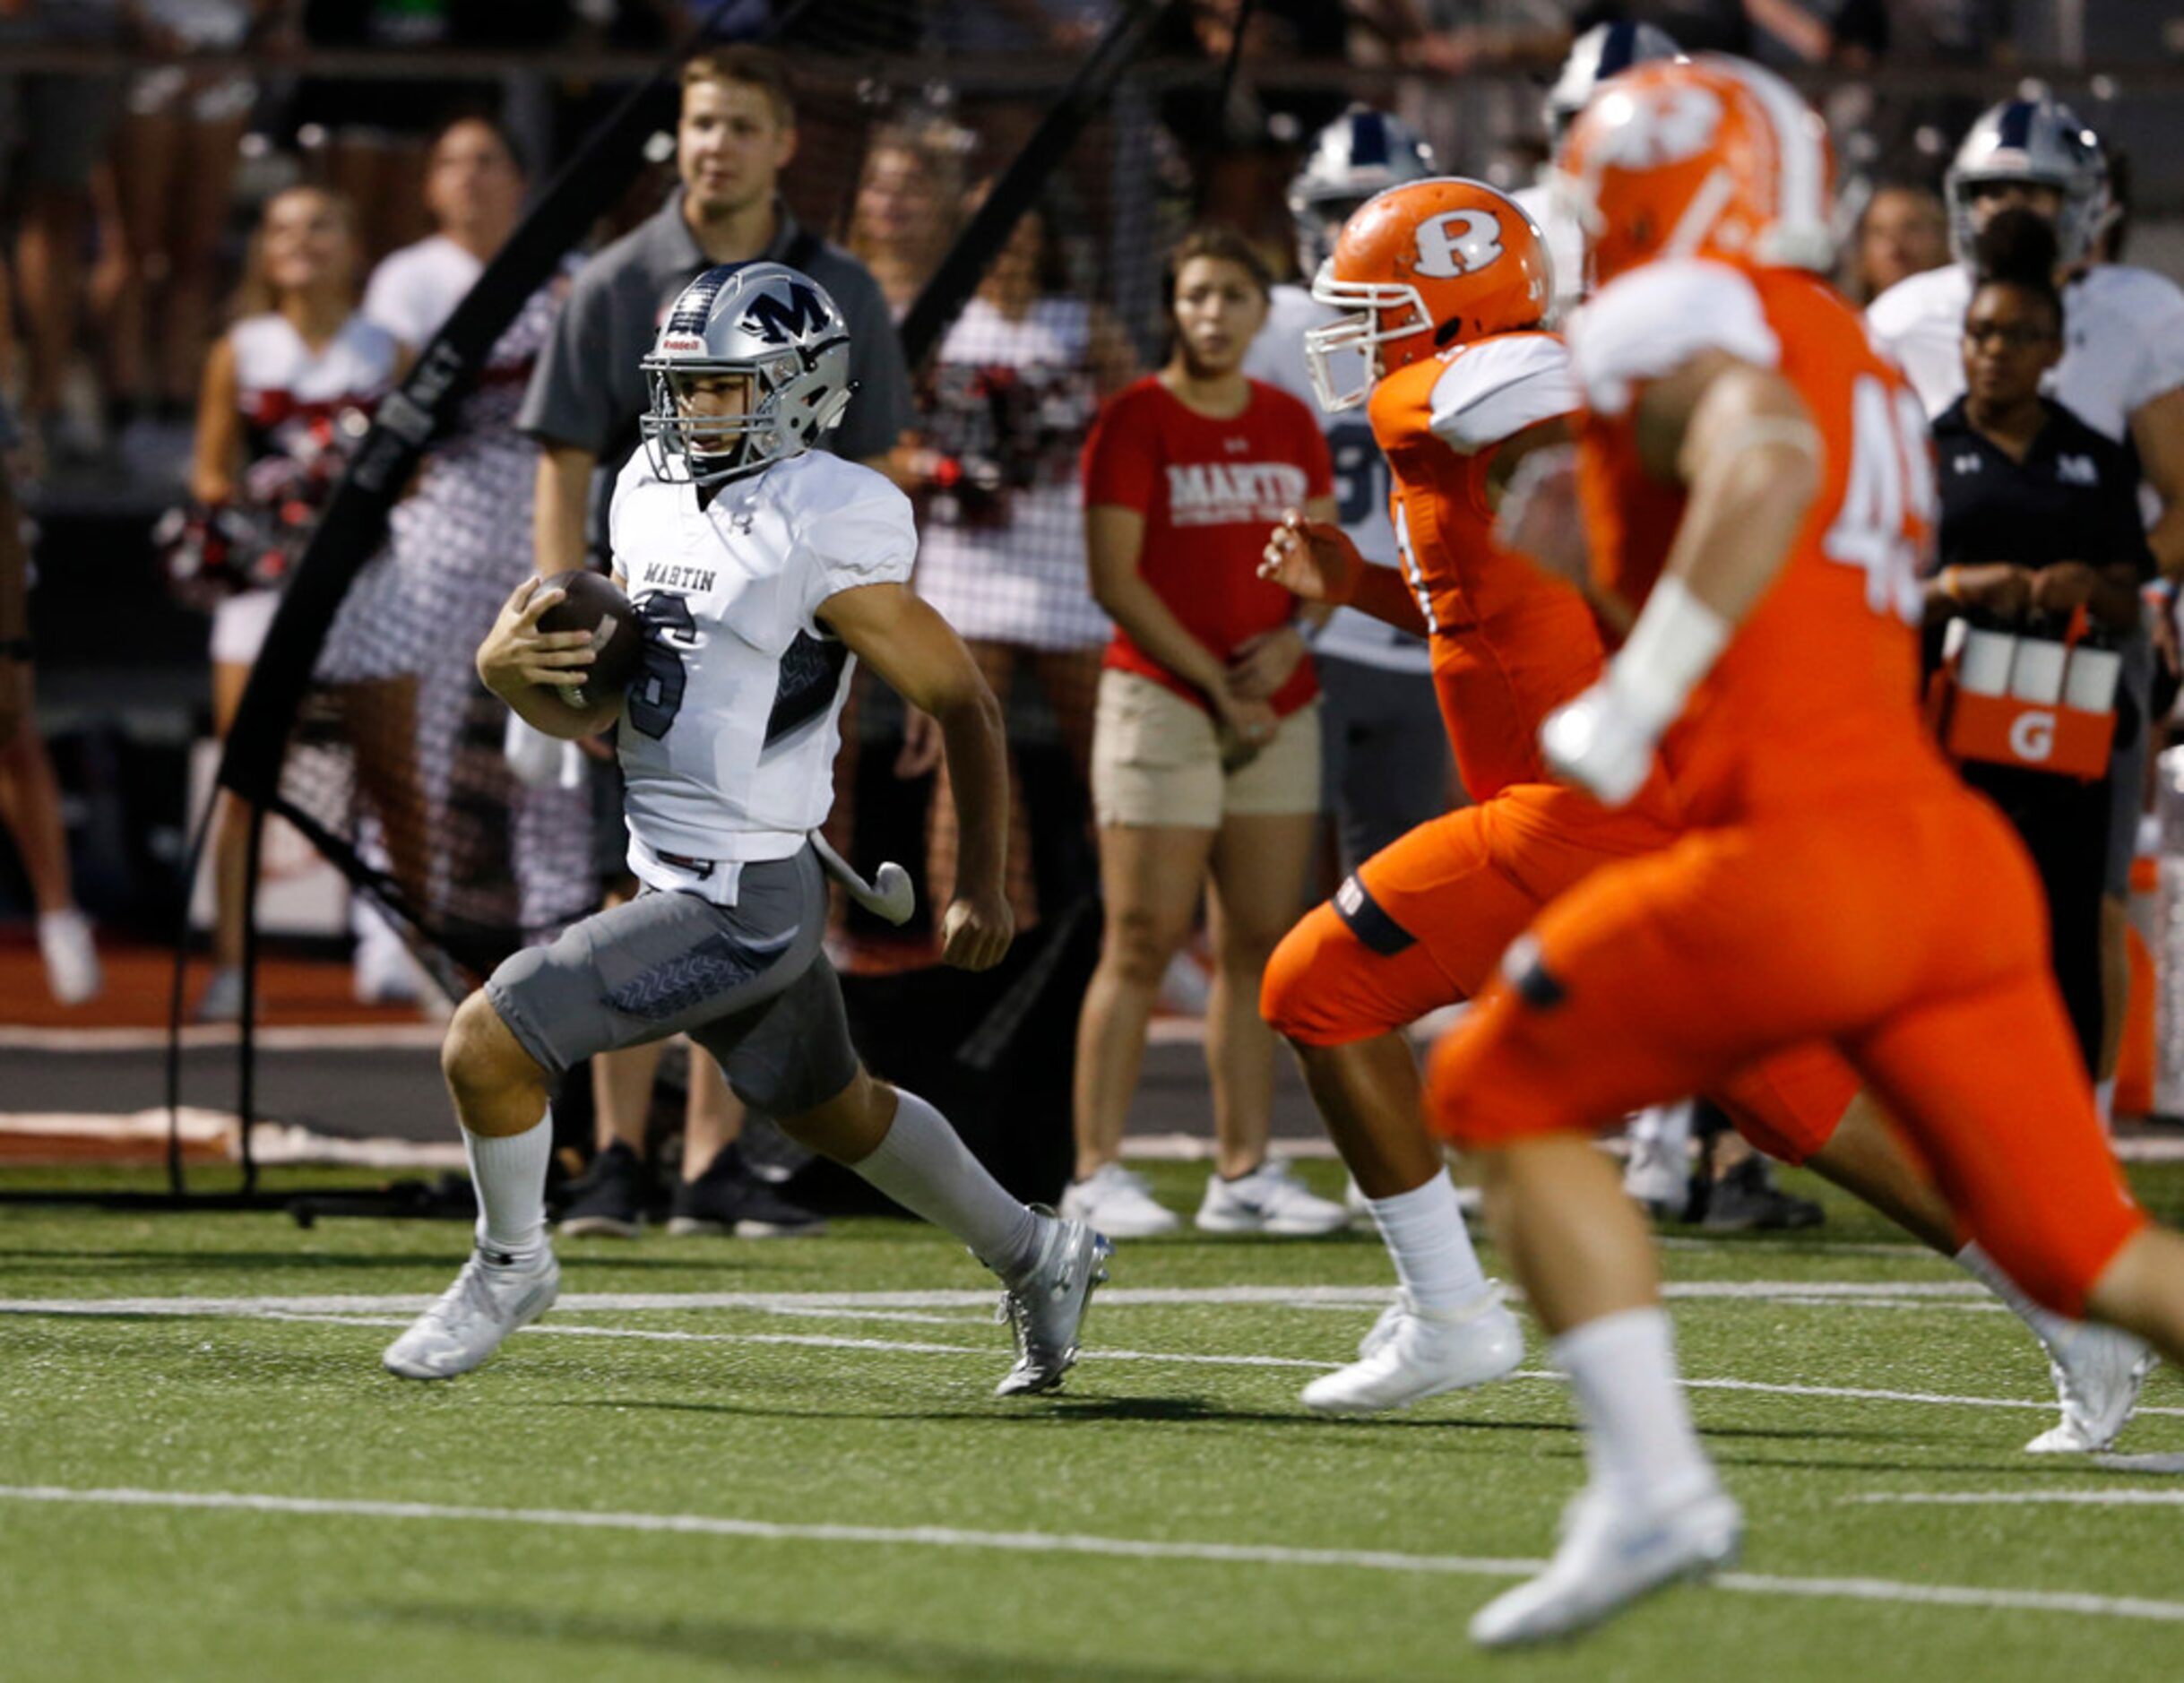
<path fill-rule="evenodd" d="M 1428 356 L 1372 393 L 1402 574 L 1426 616 L 1441 718 L 1474 801 L 1546 781 L 1540 720 L 1601 670 L 1583 596 L 1500 548 L 1487 506 L 1503 439 L 1577 402 L 1568 351 L 1540 332 Z"/>

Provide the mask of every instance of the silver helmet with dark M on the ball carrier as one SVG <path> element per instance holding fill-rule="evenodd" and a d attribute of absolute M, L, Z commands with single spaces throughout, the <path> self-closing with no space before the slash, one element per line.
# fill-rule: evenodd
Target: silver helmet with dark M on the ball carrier
<path fill-rule="evenodd" d="M 788 264 L 719 264 L 668 308 L 644 358 L 644 450 L 664 480 L 725 485 L 802 456 L 841 421 L 850 323 L 828 290 Z M 714 408 L 743 380 L 743 406 Z"/>

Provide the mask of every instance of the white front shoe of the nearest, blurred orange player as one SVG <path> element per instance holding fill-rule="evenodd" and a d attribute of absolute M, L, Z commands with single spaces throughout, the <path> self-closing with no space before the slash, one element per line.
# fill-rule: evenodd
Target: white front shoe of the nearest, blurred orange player
<path fill-rule="evenodd" d="M 1562 1515 L 1546 1572 L 1481 1607 L 1472 1642 L 1507 1648 L 1583 1631 L 1647 1591 L 1730 1565 L 1743 1535 L 1743 1513 L 1712 1478 L 1658 1508 L 1586 1487 Z"/>

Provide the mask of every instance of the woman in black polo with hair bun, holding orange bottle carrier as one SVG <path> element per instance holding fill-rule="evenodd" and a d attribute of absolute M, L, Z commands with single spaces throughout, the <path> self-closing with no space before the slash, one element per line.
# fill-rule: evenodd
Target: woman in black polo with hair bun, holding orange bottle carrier
<path fill-rule="evenodd" d="M 2138 629 L 2138 589 L 2153 576 L 2138 469 L 2121 445 L 2040 395 L 2062 360 L 2053 229 L 2027 210 L 2005 210 L 1981 231 L 1977 251 L 1963 317 L 1966 393 L 1933 421 L 1942 565 L 1926 581 L 1926 618 L 1972 611 L 1983 624 L 2060 637 L 2084 607 L 2103 646 L 2114 646 Z M 2129 764 L 2145 720 L 2123 712 L 2114 753 Z M 2040 867 L 2055 980 L 2092 1072 L 2101 1057 L 2110 784 L 1977 760 L 1963 777 L 2009 814 Z"/>

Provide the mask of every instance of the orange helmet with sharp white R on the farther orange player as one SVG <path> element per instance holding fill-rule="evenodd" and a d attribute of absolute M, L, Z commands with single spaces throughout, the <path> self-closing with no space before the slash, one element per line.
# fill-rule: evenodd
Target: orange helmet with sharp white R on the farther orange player
<path fill-rule="evenodd" d="M 1374 380 L 1487 334 L 1538 327 L 1555 297 L 1546 238 L 1524 207 L 1485 181 L 1406 181 L 1343 223 L 1313 297 L 1345 314 L 1304 334 L 1304 362 L 1328 413 L 1356 408 Z M 1365 378 L 1334 389 L 1332 360 L 1361 356 Z"/>

